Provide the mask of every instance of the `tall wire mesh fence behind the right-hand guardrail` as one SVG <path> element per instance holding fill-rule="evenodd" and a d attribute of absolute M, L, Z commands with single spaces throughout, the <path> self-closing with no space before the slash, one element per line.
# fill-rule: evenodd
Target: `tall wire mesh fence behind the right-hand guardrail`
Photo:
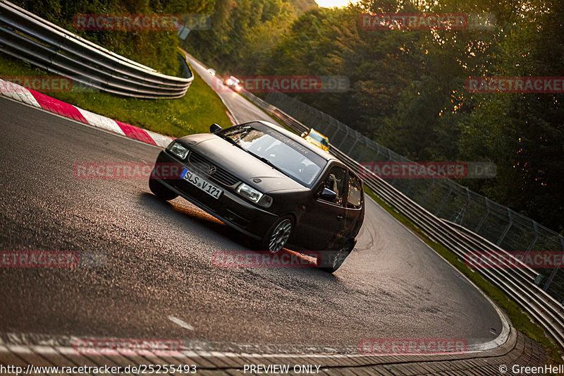
<path fill-rule="evenodd" d="M 270 92 L 266 102 L 329 138 L 333 147 L 360 164 L 371 162 L 411 162 L 371 140 L 341 121 L 281 92 Z M 509 253 L 526 257 L 532 252 L 564 253 L 564 237 L 508 207 L 474 193 L 447 178 L 388 179 L 394 188 L 429 210 L 473 231 Z M 534 268 L 541 278 L 537 284 L 564 304 L 564 269 Z"/>

